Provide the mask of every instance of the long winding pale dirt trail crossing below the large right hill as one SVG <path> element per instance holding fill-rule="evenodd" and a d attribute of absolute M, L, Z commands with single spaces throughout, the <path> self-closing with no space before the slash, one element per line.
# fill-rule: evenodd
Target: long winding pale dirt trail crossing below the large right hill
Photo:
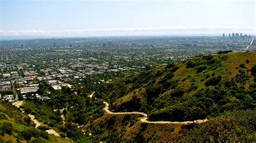
<path fill-rule="evenodd" d="M 138 114 L 138 115 L 143 115 L 145 116 L 144 118 L 140 119 L 140 121 L 142 121 L 143 123 L 149 123 L 149 124 L 191 124 L 191 123 L 203 123 L 206 122 L 207 119 L 204 120 L 194 120 L 194 121 L 148 121 L 147 120 L 147 115 L 145 113 L 142 112 L 111 112 L 109 111 L 109 103 L 103 102 L 105 103 L 105 108 L 104 110 L 109 113 L 109 114 L 114 114 L 114 115 L 120 115 L 120 114 Z"/>

